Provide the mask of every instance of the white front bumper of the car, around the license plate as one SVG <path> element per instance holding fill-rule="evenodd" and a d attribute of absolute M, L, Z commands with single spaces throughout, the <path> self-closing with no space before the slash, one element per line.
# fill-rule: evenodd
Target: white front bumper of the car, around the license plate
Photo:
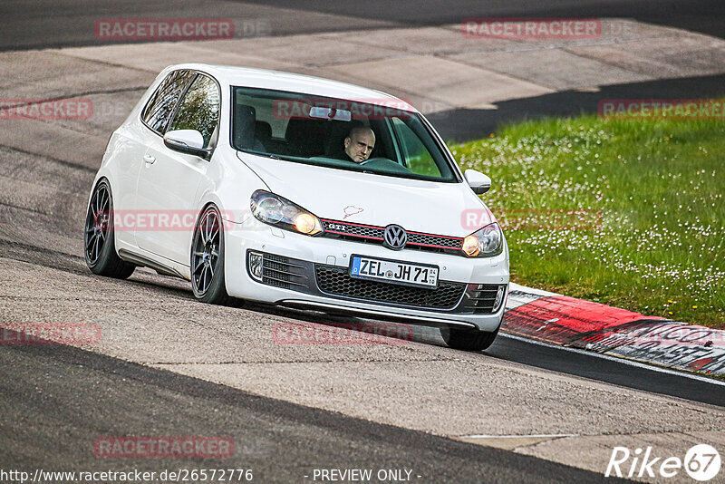
<path fill-rule="evenodd" d="M 229 295 L 275 305 L 343 310 L 382 319 L 459 325 L 482 331 L 495 331 L 501 323 L 508 284 L 507 247 L 498 257 L 469 259 L 307 237 L 250 221 L 245 226 L 234 227 L 225 234 Z M 249 272 L 250 252 L 264 255 L 262 281 Z M 439 287 L 425 289 L 353 279 L 348 276 L 353 254 L 439 266 Z M 499 286 L 504 289 L 503 301 L 494 312 Z"/>

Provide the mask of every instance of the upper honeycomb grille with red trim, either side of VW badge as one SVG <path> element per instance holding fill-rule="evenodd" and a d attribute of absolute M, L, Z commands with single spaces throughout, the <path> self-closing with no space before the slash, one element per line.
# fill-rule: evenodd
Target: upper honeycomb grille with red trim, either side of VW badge
<path fill-rule="evenodd" d="M 374 227 L 369 225 L 353 224 L 338 220 L 322 220 L 324 237 L 343 238 L 356 242 L 367 242 L 382 246 L 385 227 Z M 406 230 L 408 243 L 405 248 L 425 250 L 429 252 L 444 252 L 449 254 L 463 255 L 460 248 L 463 247 L 463 238 L 437 236 L 423 234 Z"/>

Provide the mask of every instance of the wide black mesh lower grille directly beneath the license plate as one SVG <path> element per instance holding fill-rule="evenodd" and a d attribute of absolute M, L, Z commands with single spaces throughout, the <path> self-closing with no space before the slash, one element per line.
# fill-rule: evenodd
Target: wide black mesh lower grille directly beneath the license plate
<path fill-rule="evenodd" d="M 440 281 L 435 289 L 411 287 L 351 277 L 344 267 L 315 264 L 317 286 L 328 295 L 362 301 L 451 309 L 458 305 L 465 284 Z"/>

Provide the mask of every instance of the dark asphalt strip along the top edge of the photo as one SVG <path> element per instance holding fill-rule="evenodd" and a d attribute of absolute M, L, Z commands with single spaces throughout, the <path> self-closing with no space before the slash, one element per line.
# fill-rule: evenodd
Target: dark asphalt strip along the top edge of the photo
<path fill-rule="evenodd" d="M 162 4 L 131 1 L 112 6 L 94 0 L 8 0 L 0 5 L 4 28 L 0 50 L 102 44 L 93 35 L 98 18 L 230 17 L 263 20 L 275 34 L 333 32 L 384 26 L 456 24 L 468 17 L 622 17 L 725 37 L 722 0 L 273 0 L 223 2 L 171 0 Z M 213 15 L 209 13 L 213 12 Z"/>

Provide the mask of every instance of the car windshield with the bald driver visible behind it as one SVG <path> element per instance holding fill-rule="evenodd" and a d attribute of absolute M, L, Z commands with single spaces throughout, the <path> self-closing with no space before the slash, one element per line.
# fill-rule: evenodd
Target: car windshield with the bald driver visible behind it
<path fill-rule="evenodd" d="M 232 94 L 237 150 L 333 169 L 459 181 L 420 114 L 405 103 L 246 87 Z"/>

